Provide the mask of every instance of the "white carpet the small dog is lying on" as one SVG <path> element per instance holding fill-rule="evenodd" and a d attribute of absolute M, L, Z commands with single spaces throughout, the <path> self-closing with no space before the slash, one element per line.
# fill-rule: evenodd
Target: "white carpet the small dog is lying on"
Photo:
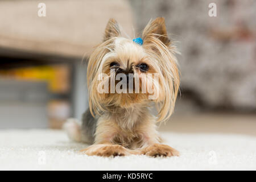
<path fill-rule="evenodd" d="M 63 131 L 0 130 L 0 169 L 32 170 L 180 170 L 256 169 L 256 137 L 224 134 L 162 133 L 180 157 L 101 158 L 77 151 Z"/>

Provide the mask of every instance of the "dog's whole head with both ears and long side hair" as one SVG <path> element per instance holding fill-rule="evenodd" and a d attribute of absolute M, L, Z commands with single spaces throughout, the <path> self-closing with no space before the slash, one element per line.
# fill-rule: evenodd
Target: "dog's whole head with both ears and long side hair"
<path fill-rule="evenodd" d="M 169 117 L 179 88 L 174 49 L 163 18 L 148 23 L 143 44 L 121 37 L 115 20 L 106 26 L 104 42 L 89 59 L 88 88 L 91 111 L 146 106 L 155 102 L 159 118 Z"/>

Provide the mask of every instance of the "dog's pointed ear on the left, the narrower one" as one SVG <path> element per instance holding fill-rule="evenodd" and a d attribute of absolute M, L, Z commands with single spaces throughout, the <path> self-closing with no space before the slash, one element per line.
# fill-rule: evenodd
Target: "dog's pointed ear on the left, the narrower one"
<path fill-rule="evenodd" d="M 113 18 L 110 18 L 105 29 L 104 41 L 116 36 L 121 36 L 121 31 L 119 29 L 117 21 Z"/>

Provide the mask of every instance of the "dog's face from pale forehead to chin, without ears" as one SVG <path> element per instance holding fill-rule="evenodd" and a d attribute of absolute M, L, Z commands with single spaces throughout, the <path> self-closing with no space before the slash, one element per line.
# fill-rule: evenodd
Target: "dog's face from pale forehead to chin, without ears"
<path fill-rule="evenodd" d="M 106 86 L 107 89 L 104 90 L 105 92 L 98 92 L 97 99 L 104 105 L 125 108 L 149 102 L 150 96 L 154 96 L 159 90 L 156 88 L 158 82 L 152 81 L 154 73 L 159 72 L 156 61 L 151 60 L 142 46 L 126 38 L 114 38 L 110 48 L 112 51 L 105 54 L 101 62 L 102 69 L 96 75 L 99 78 L 98 74 L 105 73 L 102 74 L 105 80 L 97 79 L 94 85 L 102 88 Z M 150 87 L 150 82 L 155 85 Z M 156 99 L 158 98 L 155 96 L 154 100 Z"/>

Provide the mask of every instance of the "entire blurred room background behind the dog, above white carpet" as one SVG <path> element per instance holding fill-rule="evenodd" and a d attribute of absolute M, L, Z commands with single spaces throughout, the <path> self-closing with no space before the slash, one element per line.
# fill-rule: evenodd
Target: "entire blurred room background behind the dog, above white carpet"
<path fill-rule="evenodd" d="M 255 9 L 254 0 L 0 1 L 0 129 L 61 129 L 81 118 L 86 61 L 109 18 L 133 39 L 163 16 L 181 52 L 181 88 L 160 130 L 256 135 Z"/>

